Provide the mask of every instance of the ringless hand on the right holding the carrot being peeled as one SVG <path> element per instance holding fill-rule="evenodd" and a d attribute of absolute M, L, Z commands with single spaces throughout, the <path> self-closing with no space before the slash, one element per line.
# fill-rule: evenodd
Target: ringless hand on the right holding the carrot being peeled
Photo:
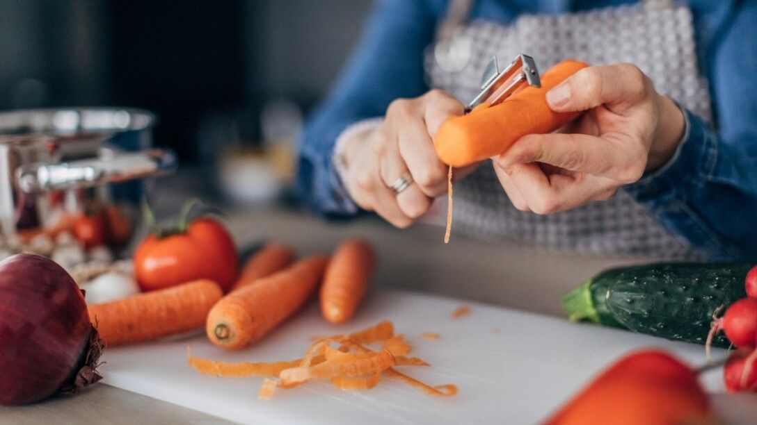
<path fill-rule="evenodd" d="M 547 93 L 557 112 L 586 111 L 548 135 L 527 135 L 494 170 L 512 204 L 550 214 L 607 200 L 673 156 L 684 115 L 631 64 L 587 67 Z"/>

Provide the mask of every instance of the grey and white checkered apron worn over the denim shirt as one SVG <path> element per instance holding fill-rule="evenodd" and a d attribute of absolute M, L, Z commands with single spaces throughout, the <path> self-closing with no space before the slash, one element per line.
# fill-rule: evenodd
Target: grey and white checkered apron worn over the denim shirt
<path fill-rule="evenodd" d="M 672 1 L 649 0 L 558 16 L 525 15 L 506 26 L 477 20 L 457 31 L 469 41 L 467 65 L 445 70 L 429 49 L 426 70 L 431 86 L 463 103 L 478 93 L 481 73 L 493 54 L 502 64 L 525 53 L 534 57 L 540 72 L 565 58 L 595 65 L 636 64 L 658 92 L 711 119 L 707 82 L 696 62 L 691 11 Z M 486 164 L 456 183 L 454 196 L 453 234 L 591 255 L 703 257 L 622 190 L 605 202 L 539 216 L 515 209 Z M 434 210 L 428 221 L 442 224 L 444 205 Z"/>

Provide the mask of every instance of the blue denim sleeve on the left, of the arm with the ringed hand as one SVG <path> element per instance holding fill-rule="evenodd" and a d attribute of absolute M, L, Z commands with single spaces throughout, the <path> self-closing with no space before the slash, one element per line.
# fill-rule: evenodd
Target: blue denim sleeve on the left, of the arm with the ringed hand
<path fill-rule="evenodd" d="M 383 116 L 394 99 L 428 90 L 423 53 L 437 19 L 438 12 L 421 0 L 376 2 L 354 54 L 308 119 L 298 147 L 298 194 L 315 213 L 358 212 L 332 165 L 335 140 L 350 124 Z"/>

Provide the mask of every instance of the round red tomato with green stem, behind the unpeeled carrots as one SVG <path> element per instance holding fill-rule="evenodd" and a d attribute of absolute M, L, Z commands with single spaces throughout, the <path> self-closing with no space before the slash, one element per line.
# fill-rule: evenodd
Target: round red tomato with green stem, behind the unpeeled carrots
<path fill-rule="evenodd" d="M 219 222 L 198 219 L 185 232 L 145 238 L 134 253 L 134 271 L 144 291 L 210 279 L 227 292 L 237 275 L 236 247 Z"/>

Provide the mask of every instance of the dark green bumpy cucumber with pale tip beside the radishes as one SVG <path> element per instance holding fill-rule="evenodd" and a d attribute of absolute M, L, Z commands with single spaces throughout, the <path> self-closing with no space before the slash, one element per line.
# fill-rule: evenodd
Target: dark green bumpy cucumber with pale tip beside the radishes
<path fill-rule="evenodd" d="M 746 296 L 744 279 L 750 267 L 668 262 L 613 268 L 565 294 L 562 306 L 572 321 L 703 344 L 715 310 Z M 720 334 L 713 345 L 730 343 Z"/>

